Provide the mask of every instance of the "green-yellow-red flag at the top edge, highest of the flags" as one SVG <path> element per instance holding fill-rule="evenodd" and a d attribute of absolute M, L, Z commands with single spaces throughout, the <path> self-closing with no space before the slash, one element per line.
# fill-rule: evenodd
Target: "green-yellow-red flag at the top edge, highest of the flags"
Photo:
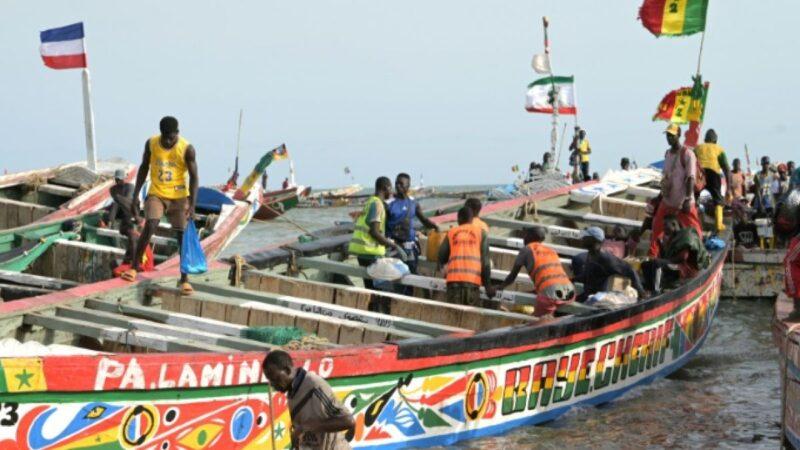
<path fill-rule="evenodd" d="M 706 29 L 708 0 L 644 0 L 642 25 L 656 37 L 688 36 Z"/>

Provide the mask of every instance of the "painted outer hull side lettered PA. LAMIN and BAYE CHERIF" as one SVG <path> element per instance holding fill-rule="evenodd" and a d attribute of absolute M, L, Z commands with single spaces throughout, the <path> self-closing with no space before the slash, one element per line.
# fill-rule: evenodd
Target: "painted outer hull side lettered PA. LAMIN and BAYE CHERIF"
<path fill-rule="evenodd" d="M 293 357 L 353 411 L 356 448 L 500 434 L 608 402 L 685 364 L 713 321 L 722 259 L 678 290 L 613 312 Z M 0 427 L 0 444 L 285 448 L 286 398 L 263 384 L 263 356 L 1 358 L 0 393 L 15 420 Z"/>

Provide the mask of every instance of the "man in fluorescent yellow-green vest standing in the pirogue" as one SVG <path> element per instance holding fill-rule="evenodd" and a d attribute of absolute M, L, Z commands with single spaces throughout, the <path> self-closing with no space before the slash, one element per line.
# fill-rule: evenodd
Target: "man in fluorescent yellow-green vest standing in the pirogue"
<path fill-rule="evenodd" d="M 378 258 L 386 256 L 386 247 L 391 247 L 405 258 L 405 252 L 397 243 L 386 237 L 386 205 L 392 196 L 392 181 L 386 177 L 375 180 L 375 195 L 367 199 L 364 209 L 356 219 L 353 237 L 347 247 L 348 253 L 358 259 L 358 265 L 368 267 Z M 364 279 L 364 287 L 374 289 L 371 279 Z M 369 310 L 389 314 L 389 301 L 385 297 L 375 297 L 369 303 Z"/>

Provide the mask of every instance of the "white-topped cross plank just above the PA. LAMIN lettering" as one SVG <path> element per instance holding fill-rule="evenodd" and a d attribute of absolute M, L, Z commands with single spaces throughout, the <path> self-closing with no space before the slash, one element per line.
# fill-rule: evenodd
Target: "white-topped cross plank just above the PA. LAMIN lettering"
<path fill-rule="evenodd" d="M 41 326 L 49 330 L 72 333 L 102 341 L 117 342 L 133 347 L 143 347 L 159 352 L 223 352 L 230 348 L 205 344 L 187 339 L 164 336 L 159 333 L 134 332 L 125 328 L 99 325 L 94 322 L 67 317 L 47 316 L 40 313 L 25 314 L 23 322 L 27 325 Z"/>

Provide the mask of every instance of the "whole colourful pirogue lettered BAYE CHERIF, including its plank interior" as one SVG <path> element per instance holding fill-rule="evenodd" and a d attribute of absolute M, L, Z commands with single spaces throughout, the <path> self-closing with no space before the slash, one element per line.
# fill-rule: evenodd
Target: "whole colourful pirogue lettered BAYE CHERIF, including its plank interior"
<path fill-rule="evenodd" d="M 570 246 L 576 224 L 637 226 L 631 217 L 644 208 L 637 198 L 651 188 L 620 181 L 486 206 L 494 275 L 505 275 L 520 245 L 514 228 L 531 216 L 550 228 L 548 239 L 563 256 L 578 251 Z M 591 212 L 601 205 L 603 214 Z M 451 223 L 452 215 L 436 220 Z M 260 369 L 271 346 L 245 337 L 267 325 L 327 340 L 292 354 L 353 411 L 347 438 L 357 448 L 442 445 L 541 423 L 685 364 L 712 324 L 725 257 L 714 252 L 697 278 L 635 305 L 570 305 L 556 320 L 537 323 L 423 298 L 442 295 L 444 280 L 431 276 L 403 278 L 416 287 L 413 297 L 330 283 L 331 273 L 365 274 L 341 258 L 349 235 L 337 233 L 344 229 L 246 258 L 270 269 L 218 263 L 193 281 L 188 297 L 174 278 L 145 274 L 135 287 L 110 280 L 0 305 L 8 336 L 80 346 L 49 354 L 7 347 L 0 448 L 288 448 L 286 398 L 269 391 Z M 421 263 L 433 273 L 431 266 Z M 298 271 L 309 279 L 290 276 Z M 529 283 L 520 277 L 501 297 L 530 303 L 533 296 L 520 292 Z M 391 316 L 366 311 L 374 295 L 390 299 Z"/>

